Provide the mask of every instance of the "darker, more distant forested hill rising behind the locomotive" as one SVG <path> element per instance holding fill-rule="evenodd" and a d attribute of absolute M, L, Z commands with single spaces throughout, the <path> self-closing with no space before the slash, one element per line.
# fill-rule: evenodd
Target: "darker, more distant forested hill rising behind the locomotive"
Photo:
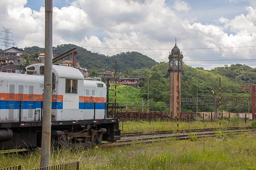
<path fill-rule="evenodd" d="M 125 52 L 117 55 L 106 56 L 99 53 L 92 53 L 83 47 L 78 47 L 74 44 L 62 44 L 52 48 L 54 57 L 57 57 L 73 48 L 77 48 L 76 59 L 80 62 L 82 67 L 94 70 L 115 70 L 115 60 L 117 59 L 117 71 L 124 72 L 128 68 L 140 69 L 143 67 L 151 68 L 157 62 L 146 55 L 138 52 Z M 44 52 L 44 48 L 39 47 L 25 47 L 25 52 L 33 55 L 34 53 Z M 68 59 L 68 58 L 66 58 Z"/>

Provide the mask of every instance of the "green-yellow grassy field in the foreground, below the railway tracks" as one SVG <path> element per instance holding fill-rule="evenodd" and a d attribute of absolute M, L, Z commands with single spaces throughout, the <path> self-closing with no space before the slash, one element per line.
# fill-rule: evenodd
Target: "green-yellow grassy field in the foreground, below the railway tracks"
<path fill-rule="evenodd" d="M 130 122 L 131 125 L 133 122 Z M 144 123 L 146 122 L 137 122 Z M 155 122 L 156 123 L 156 122 Z M 163 123 L 164 126 L 167 122 Z M 169 122 L 171 123 L 171 122 Z M 148 130 L 154 122 L 148 123 Z M 155 124 L 156 125 L 156 124 Z M 184 123 L 184 129 L 188 125 Z M 248 123 L 249 126 L 249 123 Z M 147 127 L 145 125 L 145 127 Z M 191 129 L 196 125 L 189 125 Z M 167 127 L 166 127 L 167 128 Z M 175 128 L 175 127 L 174 127 Z M 198 128 L 202 128 L 201 126 Z M 115 148 L 60 149 L 51 151 L 51 165 L 79 161 L 80 169 L 256 169 L 256 133 L 218 135 L 196 141 L 173 138 L 153 144 Z M 40 166 L 40 148 L 26 155 L 0 154 L 0 167 Z"/>

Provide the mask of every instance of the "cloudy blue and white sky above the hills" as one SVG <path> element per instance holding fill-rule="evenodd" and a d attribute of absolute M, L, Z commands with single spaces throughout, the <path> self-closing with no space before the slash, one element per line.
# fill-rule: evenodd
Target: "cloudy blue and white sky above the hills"
<path fill-rule="evenodd" d="M 44 0 L 0 2 L 0 38 L 8 28 L 14 46 L 44 47 Z M 53 46 L 109 56 L 137 51 L 163 62 L 176 38 L 192 67 L 255 68 L 255 8 L 256 0 L 53 0 Z"/>

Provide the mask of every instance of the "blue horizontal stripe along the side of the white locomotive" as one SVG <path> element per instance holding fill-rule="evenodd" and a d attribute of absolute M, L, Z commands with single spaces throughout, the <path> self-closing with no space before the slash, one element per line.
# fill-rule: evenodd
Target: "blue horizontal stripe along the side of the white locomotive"
<path fill-rule="evenodd" d="M 0 109 L 10 109 L 10 105 L 11 109 L 19 109 L 20 101 L 0 101 Z M 21 101 L 21 105 L 22 109 L 36 109 L 41 108 L 42 102 Z M 63 109 L 63 102 L 52 102 L 52 109 Z M 79 109 L 94 109 L 94 103 L 79 103 Z M 105 109 L 105 103 L 95 103 L 95 109 Z"/>

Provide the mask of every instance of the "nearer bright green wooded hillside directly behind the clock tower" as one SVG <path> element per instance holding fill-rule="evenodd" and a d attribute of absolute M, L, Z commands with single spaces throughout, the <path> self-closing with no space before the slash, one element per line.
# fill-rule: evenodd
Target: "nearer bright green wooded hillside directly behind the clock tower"
<path fill-rule="evenodd" d="M 160 69 L 161 68 L 161 69 Z M 255 69 L 249 66 L 242 66 L 239 64 L 226 67 L 224 72 L 220 72 L 216 69 L 203 70 L 202 68 L 193 68 L 186 64 L 183 64 L 184 71 L 181 75 L 181 98 L 203 98 L 213 97 L 219 98 L 219 78 L 221 78 L 221 97 L 247 97 L 248 91 L 240 90 L 241 85 L 248 85 L 246 80 L 252 80 L 249 84 L 254 84 L 255 79 L 251 76 Z M 224 68 L 218 68 L 219 70 Z M 245 76 L 241 76 L 242 73 L 236 74 L 234 77 L 227 77 L 225 74 L 229 74 L 229 70 L 247 70 Z M 149 110 L 168 111 L 169 107 L 169 76 L 168 63 L 161 62 L 151 67 L 151 69 L 142 68 L 139 70 L 129 70 L 132 75 L 141 74 L 144 76 L 144 81 L 140 82 L 139 88 L 127 87 L 123 85 L 117 86 L 117 102 L 126 106 L 128 102 L 128 109 L 142 109 L 142 100 L 144 102 L 144 110 L 147 109 L 147 99 L 149 96 Z M 237 72 L 237 70 L 236 70 Z M 143 75 L 144 73 L 144 75 Z M 223 74 L 222 74 L 223 73 Z M 245 73 L 245 72 L 244 72 Z M 150 75 L 149 80 L 145 75 Z M 149 83 L 148 83 L 149 82 Z M 110 91 L 110 101 L 114 99 L 112 91 Z M 213 92 L 214 93 L 213 93 Z M 252 92 L 249 92 L 250 96 Z M 197 94 L 197 95 L 196 95 Z M 214 112 L 216 106 L 215 102 L 210 101 L 198 101 L 198 112 Z M 228 112 L 248 112 L 248 100 L 247 101 L 223 101 L 221 103 L 221 109 Z M 182 111 L 196 112 L 196 102 L 182 102 Z M 252 104 L 250 102 L 250 110 L 252 110 Z"/>

